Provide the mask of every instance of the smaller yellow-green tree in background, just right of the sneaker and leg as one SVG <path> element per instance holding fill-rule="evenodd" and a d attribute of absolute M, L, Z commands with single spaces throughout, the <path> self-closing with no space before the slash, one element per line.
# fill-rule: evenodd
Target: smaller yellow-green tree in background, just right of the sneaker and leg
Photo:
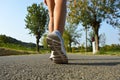
<path fill-rule="evenodd" d="M 81 33 L 77 26 L 68 23 L 65 27 L 63 38 L 65 47 L 68 51 L 72 52 L 72 45 L 80 44 Z"/>

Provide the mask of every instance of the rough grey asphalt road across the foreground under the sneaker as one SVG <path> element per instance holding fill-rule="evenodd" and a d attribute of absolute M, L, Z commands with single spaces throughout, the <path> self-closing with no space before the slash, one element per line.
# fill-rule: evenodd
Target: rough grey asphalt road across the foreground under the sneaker
<path fill-rule="evenodd" d="M 68 54 L 69 64 L 45 55 L 0 57 L 0 80 L 120 80 L 120 57 Z"/>

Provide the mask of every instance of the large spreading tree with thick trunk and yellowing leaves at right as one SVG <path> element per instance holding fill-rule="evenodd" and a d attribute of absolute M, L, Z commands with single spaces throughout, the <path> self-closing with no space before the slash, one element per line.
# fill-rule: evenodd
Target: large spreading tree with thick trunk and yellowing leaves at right
<path fill-rule="evenodd" d="M 99 28 L 103 21 L 120 28 L 120 0 L 72 0 L 68 3 L 68 21 L 91 26 L 95 33 L 96 52 L 99 51 Z M 75 4 L 75 5 L 74 5 Z"/>

